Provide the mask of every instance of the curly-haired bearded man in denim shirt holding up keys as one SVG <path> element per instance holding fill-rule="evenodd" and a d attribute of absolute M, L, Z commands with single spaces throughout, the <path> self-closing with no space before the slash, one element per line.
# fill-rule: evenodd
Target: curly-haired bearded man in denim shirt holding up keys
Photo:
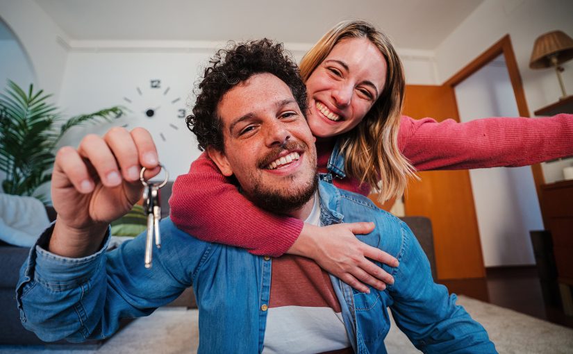
<path fill-rule="evenodd" d="M 213 61 L 199 88 L 190 126 L 223 174 L 273 212 L 322 225 L 374 221 L 376 232 L 360 239 L 400 260 L 387 268 L 395 283 L 356 292 L 310 260 L 271 260 L 208 244 L 169 220 L 161 223 L 162 247 L 151 269 L 144 268 L 143 235 L 106 253 L 109 221 L 139 198 L 140 165 L 158 173 L 149 133 L 113 129 L 58 152 L 58 221 L 40 237 L 17 287 L 26 328 L 44 340 L 106 337 L 119 318 L 150 314 L 192 285 L 202 353 L 385 353 L 388 306 L 424 352 L 495 352 L 483 327 L 433 283 L 404 223 L 362 196 L 317 183 L 304 85 L 280 46 L 236 46 Z"/>

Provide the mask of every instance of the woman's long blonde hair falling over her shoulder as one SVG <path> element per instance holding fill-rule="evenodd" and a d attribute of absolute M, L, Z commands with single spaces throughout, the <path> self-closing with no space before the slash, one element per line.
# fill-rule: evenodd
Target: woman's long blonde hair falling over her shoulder
<path fill-rule="evenodd" d="M 339 137 L 344 169 L 361 183 L 367 183 L 372 192 L 380 193 L 381 200 L 400 196 L 415 170 L 398 149 L 406 80 L 390 39 L 368 22 L 340 22 L 302 58 L 301 77 L 306 82 L 334 46 L 347 38 L 367 38 L 380 50 L 388 68 L 383 91 L 372 108 L 358 126 Z"/>

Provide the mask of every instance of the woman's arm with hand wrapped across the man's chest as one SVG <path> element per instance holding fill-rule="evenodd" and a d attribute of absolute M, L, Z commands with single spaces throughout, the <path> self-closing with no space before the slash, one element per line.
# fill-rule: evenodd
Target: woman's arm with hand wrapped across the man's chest
<path fill-rule="evenodd" d="M 357 223 L 319 228 L 260 210 L 220 173 L 206 153 L 193 162 L 188 174 L 175 180 L 169 206 L 174 224 L 204 241 L 247 248 L 256 255 L 304 255 L 362 292 L 368 290 L 363 283 L 383 289 L 384 283 L 393 282 L 367 258 L 392 267 L 397 260 L 354 237 L 369 233 L 372 226 Z"/>

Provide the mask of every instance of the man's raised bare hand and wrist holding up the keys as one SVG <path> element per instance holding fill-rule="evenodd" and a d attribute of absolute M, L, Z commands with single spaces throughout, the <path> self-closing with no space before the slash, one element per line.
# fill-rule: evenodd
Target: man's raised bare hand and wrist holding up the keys
<path fill-rule="evenodd" d="M 78 149 L 58 150 L 51 178 L 58 218 L 49 251 L 73 258 L 97 251 L 110 221 L 141 198 L 142 167 L 145 178 L 160 171 L 155 144 L 143 128 L 111 128 L 103 137 L 86 135 Z"/>

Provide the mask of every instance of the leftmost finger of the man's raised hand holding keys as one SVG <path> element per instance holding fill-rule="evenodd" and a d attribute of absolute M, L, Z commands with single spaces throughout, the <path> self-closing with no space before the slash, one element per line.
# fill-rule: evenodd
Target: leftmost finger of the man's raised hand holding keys
<path fill-rule="evenodd" d="M 72 146 L 63 146 L 56 153 L 54 173 L 57 171 L 61 171 L 78 192 L 86 194 L 94 190 L 94 181 L 90 177 L 88 167 Z M 57 183 L 56 180 L 53 183 Z"/>

